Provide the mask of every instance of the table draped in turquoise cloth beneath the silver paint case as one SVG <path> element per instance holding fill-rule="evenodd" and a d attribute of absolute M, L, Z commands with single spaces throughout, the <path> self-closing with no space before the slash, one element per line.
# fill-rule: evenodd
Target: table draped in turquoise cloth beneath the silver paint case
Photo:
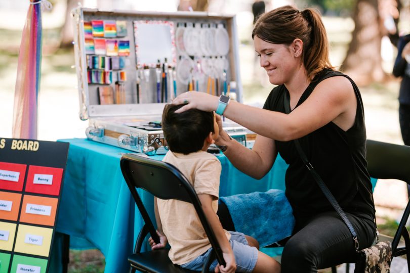
<path fill-rule="evenodd" d="M 119 168 L 119 159 L 131 151 L 87 139 L 59 140 L 70 143 L 63 191 L 57 218 L 58 233 L 70 236 L 71 248 L 94 247 L 105 256 L 105 272 L 127 272 L 127 257 L 143 225 Z M 161 160 L 163 155 L 151 158 Z M 279 156 L 272 170 L 260 180 L 238 171 L 223 155 L 220 196 L 269 189 L 284 190 L 286 163 Z M 139 190 L 153 217 L 153 197 Z M 54 249 L 62 237 L 56 236 Z M 53 251 L 50 272 L 60 272 L 62 254 Z"/>

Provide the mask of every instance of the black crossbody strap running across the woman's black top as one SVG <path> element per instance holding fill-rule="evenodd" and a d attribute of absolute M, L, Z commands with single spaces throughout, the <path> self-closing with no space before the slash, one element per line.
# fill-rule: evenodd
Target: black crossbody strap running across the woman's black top
<path fill-rule="evenodd" d="M 289 94 L 287 92 L 285 92 L 285 94 L 283 95 L 283 102 L 284 102 L 285 113 L 289 114 L 291 112 L 291 109 L 290 109 Z M 352 223 L 347 218 L 346 214 L 344 213 L 344 211 L 340 207 L 338 201 L 336 201 L 333 194 L 330 192 L 329 188 L 327 188 L 327 186 L 324 184 L 324 182 L 323 182 L 322 178 L 320 177 L 320 175 L 316 172 L 316 170 L 313 168 L 312 164 L 309 162 L 306 154 L 303 152 L 302 147 L 300 146 L 299 140 L 298 139 L 294 140 L 294 143 L 295 143 L 296 149 L 298 150 L 298 153 L 299 153 L 303 163 L 306 165 L 306 167 L 308 168 L 308 170 L 312 174 L 312 176 L 315 179 L 315 181 L 316 181 L 317 185 L 319 186 L 320 190 L 322 190 L 324 196 L 327 198 L 327 200 L 329 200 L 331 205 L 334 207 L 336 212 L 339 214 L 339 216 L 342 218 L 342 220 L 345 222 L 345 224 L 349 228 L 350 233 L 352 234 L 352 237 L 353 237 L 354 246 L 356 248 L 356 251 L 359 251 L 359 241 L 357 240 L 357 234 L 356 234 L 356 231 L 353 228 Z"/>

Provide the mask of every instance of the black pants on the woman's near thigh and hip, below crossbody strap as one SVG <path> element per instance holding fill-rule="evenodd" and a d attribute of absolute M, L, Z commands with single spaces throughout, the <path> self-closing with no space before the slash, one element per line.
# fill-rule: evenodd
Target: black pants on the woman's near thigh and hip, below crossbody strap
<path fill-rule="evenodd" d="M 346 213 L 359 240 L 359 248 L 372 245 L 375 239 L 375 223 L 370 216 Z M 356 251 L 352 235 L 336 211 L 325 212 L 307 221 L 286 242 L 281 257 L 282 273 L 317 272 L 354 261 Z"/>

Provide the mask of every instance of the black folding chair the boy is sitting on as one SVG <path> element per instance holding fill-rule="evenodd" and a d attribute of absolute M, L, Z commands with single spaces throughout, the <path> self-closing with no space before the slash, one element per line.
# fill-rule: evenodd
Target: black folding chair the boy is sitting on
<path fill-rule="evenodd" d="M 215 258 L 219 264 L 225 265 L 221 248 L 202 210 L 198 196 L 186 177 L 176 167 L 135 154 L 123 155 L 120 166 L 122 175 L 124 175 L 145 222 L 135 243 L 134 253 L 128 257 L 131 272 L 135 272 L 136 269 L 143 272 L 158 273 L 193 272 L 174 265 L 168 257 L 169 249 L 141 252 L 142 243 L 148 233 L 156 243 L 159 243 L 159 238 L 147 210 L 137 193 L 137 188 L 141 188 L 159 199 L 177 199 L 192 203 L 213 248 L 212 255 L 209 255 L 208 260 L 202 267 L 202 272 L 209 271 L 209 266 Z"/>

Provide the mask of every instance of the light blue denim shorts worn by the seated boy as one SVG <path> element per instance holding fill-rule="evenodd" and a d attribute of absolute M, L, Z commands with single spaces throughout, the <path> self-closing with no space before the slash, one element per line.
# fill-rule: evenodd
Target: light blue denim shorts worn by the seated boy
<path fill-rule="evenodd" d="M 255 268 L 256 261 L 258 260 L 258 249 L 256 247 L 251 247 L 248 245 L 248 241 L 243 233 L 229 233 L 231 234 L 231 239 L 229 239 L 229 243 L 231 244 L 232 251 L 235 255 L 236 261 L 235 272 L 252 272 L 252 270 L 254 270 Z M 196 257 L 192 261 L 182 264 L 181 267 L 196 271 L 202 270 L 203 263 L 211 254 L 211 251 L 212 248 L 208 249 L 205 253 Z M 218 261 L 214 260 L 209 268 L 209 271 L 213 272 L 217 264 Z"/>

